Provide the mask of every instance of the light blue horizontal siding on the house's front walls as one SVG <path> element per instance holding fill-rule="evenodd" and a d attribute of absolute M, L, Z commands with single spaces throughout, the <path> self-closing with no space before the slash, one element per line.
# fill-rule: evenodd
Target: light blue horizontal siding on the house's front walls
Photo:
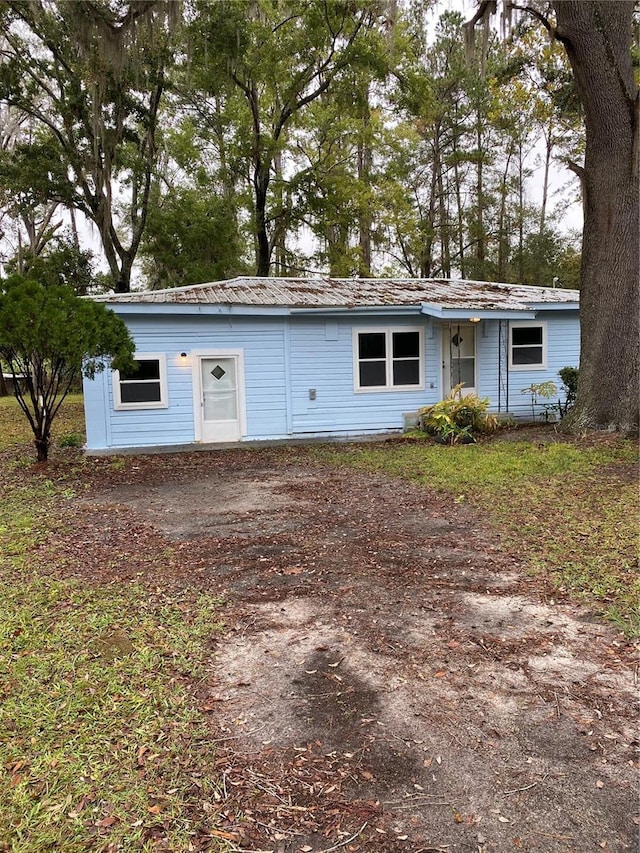
<path fill-rule="evenodd" d="M 401 430 L 403 414 L 442 398 L 442 326 L 419 314 L 341 317 L 251 316 L 224 314 L 126 313 L 138 352 L 164 353 L 168 408 L 115 411 L 110 370 L 85 381 L 87 447 L 91 450 L 189 444 L 195 440 L 192 350 L 242 350 L 247 426 L 244 440 L 317 435 L 357 435 Z M 500 408 L 525 411 L 520 393 L 531 383 L 554 381 L 558 370 L 577 366 L 579 325 L 576 311 L 539 312 L 547 328 L 547 368 L 510 371 L 502 359 Z M 505 321 L 506 323 L 506 321 Z M 354 329 L 421 328 L 424 387 L 420 390 L 356 391 Z M 498 407 L 498 321 L 482 320 L 476 329 L 477 391 Z M 507 381 L 508 380 L 508 381 Z M 507 397 L 508 386 L 508 397 Z M 310 399 L 310 390 L 315 399 Z"/>

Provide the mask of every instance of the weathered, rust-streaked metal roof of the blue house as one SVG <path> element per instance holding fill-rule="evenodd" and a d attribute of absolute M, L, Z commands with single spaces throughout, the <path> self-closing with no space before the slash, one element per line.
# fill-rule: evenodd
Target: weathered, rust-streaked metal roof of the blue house
<path fill-rule="evenodd" d="M 96 296 L 98 302 L 149 305 L 235 305 L 348 309 L 424 305 L 441 310 L 522 311 L 577 307 L 577 290 L 486 281 L 419 278 L 259 278 Z"/>

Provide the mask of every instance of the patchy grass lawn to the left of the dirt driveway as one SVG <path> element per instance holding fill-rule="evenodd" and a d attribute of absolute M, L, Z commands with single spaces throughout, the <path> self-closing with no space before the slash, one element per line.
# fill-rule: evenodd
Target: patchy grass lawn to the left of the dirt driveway
<path fill-rule="evenodd" d="M 81 432 L 82 401 L 62 412 L 54 442 Z M 0 399 L 0 850 L 226 849 L 197 817 L 215 752 L 189 689 L 219 602 L 167 594 L 161 565 L 153 590 L 56 578 L 39 547 L 74 490 L 25 426 Z"/>

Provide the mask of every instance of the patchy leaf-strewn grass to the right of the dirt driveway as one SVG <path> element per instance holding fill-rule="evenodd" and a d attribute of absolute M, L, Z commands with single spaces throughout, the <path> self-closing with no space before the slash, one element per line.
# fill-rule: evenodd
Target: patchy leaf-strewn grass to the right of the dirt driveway
<path fill-rule="evenodd" d="M 526 434 L 526 433 L 525 433 Z M 611 436 L 443 447 L 423 441 L 321 448 L 325 461 L 387 473 L 478 507 L 532 571 L 640 636 L 637 447 Z"/>

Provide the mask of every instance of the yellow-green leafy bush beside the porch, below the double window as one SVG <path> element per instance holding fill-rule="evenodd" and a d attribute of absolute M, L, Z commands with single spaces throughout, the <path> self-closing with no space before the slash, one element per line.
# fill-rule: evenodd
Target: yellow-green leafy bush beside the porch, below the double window
<path fill-rule="evenodd" d="M 418 410 L 420 429 L 436 436 L 444 444 L 473 441 L 474 432 L 492 432 L 497 421 L 488 414 L 489 400 L 476 394 L 462 394 L 463 383 L 451 389 L 445 400 Z"/>

